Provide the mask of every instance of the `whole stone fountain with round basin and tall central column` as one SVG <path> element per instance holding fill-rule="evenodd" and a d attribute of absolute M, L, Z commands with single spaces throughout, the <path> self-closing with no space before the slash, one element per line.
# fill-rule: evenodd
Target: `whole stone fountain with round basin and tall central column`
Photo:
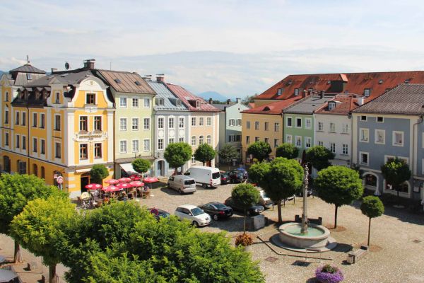
<path fill-rule="evenodd" d="M 300 252 L 323 252 L 337 246 L 334 238 L 331 238 L 329 229 L 322 225 L 310 224 L 307 219 L 307 186 L 308 168 L 305 164 L 303 180 L 303 211 L 302 222 L 289 222 L 278 227 L 278 238 L 274 242 L 282 248 Z"/>

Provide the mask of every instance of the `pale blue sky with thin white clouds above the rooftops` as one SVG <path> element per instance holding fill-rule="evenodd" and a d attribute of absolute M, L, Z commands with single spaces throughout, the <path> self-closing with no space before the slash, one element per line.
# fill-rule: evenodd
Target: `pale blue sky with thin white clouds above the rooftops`
<path fill-rule="evenodd" d="M 422 1 L 0 0 L 0 70 L 165 74 L 193 93 L 262 93 L 288 74 L 424 69 Z"/>

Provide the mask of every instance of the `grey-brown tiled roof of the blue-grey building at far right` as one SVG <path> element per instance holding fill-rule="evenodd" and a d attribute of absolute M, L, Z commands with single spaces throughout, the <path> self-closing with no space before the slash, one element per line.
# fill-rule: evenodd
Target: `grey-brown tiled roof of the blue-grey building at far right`
<path fill-rule="evenodd" d="M 424 114 L 424 84 L 399 84 L 353 112 L 422 115 Z"/>

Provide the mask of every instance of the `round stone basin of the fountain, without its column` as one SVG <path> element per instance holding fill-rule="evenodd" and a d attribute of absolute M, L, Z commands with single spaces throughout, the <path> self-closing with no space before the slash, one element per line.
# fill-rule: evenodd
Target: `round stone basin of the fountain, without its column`
<path fill-rule="evenodd" d="M 322 249 L 325 248 L 326 245 L 329 243 L 329 236 L 330 231 L 329 229 L 326 229 L 322 225 L 315 225 L 315 224 L 309 224 L 309 227 L 312 227 L 313 229 L 318 229 L 320 232 L 322 232 L 319 236 L 308 236 L 306 235 L 293 235 L 292 233 L 289 233 L 287 229 L 291 230 L 293 229 L 293 226 L 298 226 L 300 229 L 301 224 L 297 222 L 289 222 L 286 224 L 281 225 L 278 228 L 278 231 L 280 232 L 278 234 L 278 238 L 281 242 L 287 244 L 288 246 L 293 246 L 296 248 L 313 248 L 313 249 Z"/>

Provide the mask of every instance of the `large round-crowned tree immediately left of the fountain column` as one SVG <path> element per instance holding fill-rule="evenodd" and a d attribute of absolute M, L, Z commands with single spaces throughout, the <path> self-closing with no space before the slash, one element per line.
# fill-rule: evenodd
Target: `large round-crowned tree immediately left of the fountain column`
<path fill-rule="evenodd" d="M 265 166 L 265 165 L 264 165 Z M 281 216 L 281 202 L 300 192 L 303 184 L 303 168 L 298 161 L 277 157 L 268 166 L 264 178 L 259 185 L 266 195 L 278 204 L 278 222 L 283 221 Z"/>

